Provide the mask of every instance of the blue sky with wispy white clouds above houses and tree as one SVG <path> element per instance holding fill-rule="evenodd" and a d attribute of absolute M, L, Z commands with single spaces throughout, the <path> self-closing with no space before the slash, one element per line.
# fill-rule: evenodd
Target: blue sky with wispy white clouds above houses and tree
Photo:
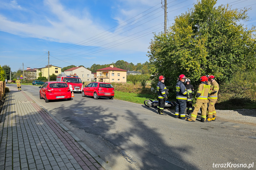
<path fill-rule="evenodd" d="M 164 0 L 162 0 L 164 1 Z M 167 0 L 168 22 L 196 0 Z M 251 7 L 247 27 L 256 25 L 255 0 L 222 0 Z M 161 0 L 0 0 L 0 65 L 12 71 L 48 64 L 144 63 L 152 32 L 164 28 Z"/>

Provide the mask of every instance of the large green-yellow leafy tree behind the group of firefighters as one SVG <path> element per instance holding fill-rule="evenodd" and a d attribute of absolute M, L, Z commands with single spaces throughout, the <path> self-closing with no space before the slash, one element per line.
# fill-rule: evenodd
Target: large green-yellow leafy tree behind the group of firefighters
<path fill-rule="evenodd" d="M 185 14 L 175 18 L 167 34 L 159 33 L 150 43 L 150 71 L 166 77 L 166 85 L 175 87 L 180 74 L 193 83 L 203 75 L 219 81 L 233 73 L 255 67 L 255 27 L 248 29 L 248 9 L 215 7 L 217 0 L 201 0 Z M 198 84 L 198 82 L 196 82 Z"/>

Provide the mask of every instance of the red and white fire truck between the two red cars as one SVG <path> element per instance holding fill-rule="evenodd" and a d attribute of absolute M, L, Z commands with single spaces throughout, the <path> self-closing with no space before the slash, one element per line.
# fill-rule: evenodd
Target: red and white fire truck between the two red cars
<path fill-rule="evenodd" d="M 82 93 L 82 89 L 84 87 L 84 83 L 82 83 L 81 79 L 76 75 L 66 75 L 66 74 L 59 74 L 57 76 L 56 81 L 63 81 L 66 82 L 70 88 L 70 91 L 79 91 Z"/>

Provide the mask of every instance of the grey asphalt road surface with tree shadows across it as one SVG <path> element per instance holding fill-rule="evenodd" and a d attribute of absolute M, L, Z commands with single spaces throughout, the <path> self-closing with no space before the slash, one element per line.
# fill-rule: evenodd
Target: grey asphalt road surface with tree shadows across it
<path fill-rule="evenodd" d="M 223 119 L 202 123 L 199 118 L 187 122 L 175 119 L 174 109 L 162 116 L 155 108 L 115 98 L 95 100 L 78 92 L 71 101 L 45 103 L 38 86 L 22 85 L 22 90 L 114 170 L 248 169 L 231 164 L 249 166 L 256 160 L 254 124 Z M 255 167 L 256 161 L 250 169 Z"/>

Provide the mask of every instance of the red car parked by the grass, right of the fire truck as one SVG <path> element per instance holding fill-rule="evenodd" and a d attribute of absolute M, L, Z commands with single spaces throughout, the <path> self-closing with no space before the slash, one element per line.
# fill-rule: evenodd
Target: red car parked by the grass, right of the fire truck
<path fill-rule="evenodd" d="M 98 99 L 99 97 L 112 99 L 115 95 L 115 89 L 110 83 L 91 82 L 82 90 L 82 97 L 86 95 L 93 96 L 94 99 Z"/>

